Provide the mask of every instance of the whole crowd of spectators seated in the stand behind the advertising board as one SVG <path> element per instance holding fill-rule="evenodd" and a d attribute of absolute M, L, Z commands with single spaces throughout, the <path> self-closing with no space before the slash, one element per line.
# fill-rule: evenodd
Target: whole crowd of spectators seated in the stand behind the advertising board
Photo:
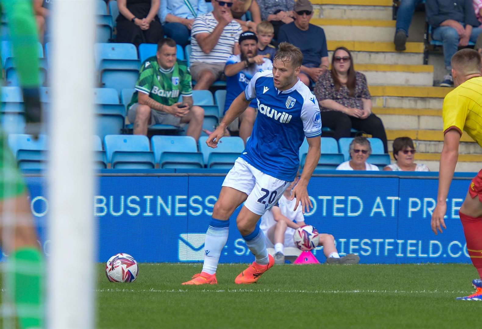
<path fill-rule="evenodd" d="M 133 124 L 134 134 L 147 135 L 149 126 L 168 124 L 185 129 L 187 135 L 198 140 L 202 131 L 209 133 L 215 126 L 203 127 L 204 110 L 193 104 L 192 91 L 215 90 L 225 84 L 225 113 L 256 72 L 272 68 L 277 44 L 287 41 L 303 53 L 298 77 L 313 90 L 319 102 L 323 127 L 329 128 L 323 135 L 339 140 L 366 133 L 379 138 L 383 151 L 388 153 L 383 122 L 372 113 L 370 81 L 355 71 L 353 57 L 345 47 L 335 49 L 330 62 L 325 31 L 310 24 L 314 10 L 309 0 L 105 2 L 114 2 L 118 10 L 112 41 L 136 47 L 143 43 L 158 44 L 156 55 L 143 60 L 137 83 L 132 86 L 136 92 L 127 106 L 126 118 Z M 406 49 L 415 8 L 421 5 L 426 8 L 431 38 L 442 41 L 447 72 L 441 86 L 453 86 L 450 58 L 457 49 L 475 45 L 482 52 L 482 0 L 402 0 L 396 15 L 397 51 Z M 112 3 L 108 7 L 112 8 Z M 34 0 L 41 42 L 49 34 L 50 11 L 50 0 Z M 181 49 L 189 47 L 187 62 L 176 60 L 176 45 Z M 246 143 L 256 112 L 254 100 L 228 127 L 226 135 L 239 135 Z M 339 167 L 362 169 L 366 163 L 366 168 L 371 168 L 366 162 L 370 142 L 361 141 L 350 145 L 351 160 Z M 393 145 L 396 163 L 385 170 L 426 170 L 425 166 L 413 163 L 413 141 L 404 139 L 400 143 Z M 355 154 L 357 150 L 359 153 Z M 409 153 L 404 153 L 407 150 Z"/>

